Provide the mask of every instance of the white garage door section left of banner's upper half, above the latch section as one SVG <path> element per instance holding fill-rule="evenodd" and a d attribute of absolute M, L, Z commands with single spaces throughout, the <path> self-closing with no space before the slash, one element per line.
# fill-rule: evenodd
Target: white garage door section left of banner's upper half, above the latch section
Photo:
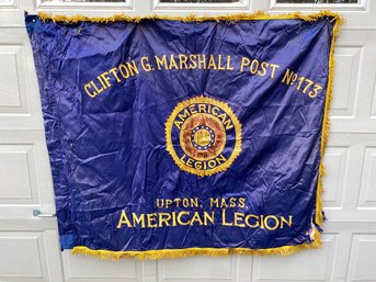
<path fill-rule="evenodd" d="M 1 10 L 0 10 L 1 11 Z M 0 27 L 0 129 L 43 129 L 37 81 L 26 30 Z"/>

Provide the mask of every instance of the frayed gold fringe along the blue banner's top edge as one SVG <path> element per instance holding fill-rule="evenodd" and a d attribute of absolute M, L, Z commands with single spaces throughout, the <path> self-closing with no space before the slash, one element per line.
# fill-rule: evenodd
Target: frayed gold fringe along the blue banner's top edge
<path fill-rule="evenodd" d="M 145 20 L 170 20 L 170 21 L 182 21 L 182 22 L 237 22 L 237 21 L 249 21 L 249 20 L 304 20 L 304 21 L 318 21 L 322 18 L 332 18 L 332 21 L 342 21 L 339 13 L 331 11 L 321 11 L 312 14 L 301 14 L 299 12 L 285 13 L 285 14 L 269 14 L 263 11 L 257 11 L 254 13 L 238 13 L 218 16 L 197 16 L 190 14 L 186 16 L 170 16 L 170 15 L 146 15 L 146 16 L 130 16 L 126 14 L 114 14 L 112 16 L 87 16 L 87 15 L 52 15 L 44 12 L 39 12 L 38 16 L 42 21 L 53 21 L 66 24 L 75 24 L 79 22 L 93 22 L 93 23 L 110 23 L 110 22 L 133 22 L 139 23 Z"/>

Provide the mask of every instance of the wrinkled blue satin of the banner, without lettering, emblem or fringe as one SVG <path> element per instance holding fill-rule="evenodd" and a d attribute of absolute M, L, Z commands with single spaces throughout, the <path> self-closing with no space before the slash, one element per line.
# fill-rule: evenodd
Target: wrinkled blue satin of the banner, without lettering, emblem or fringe
<path fill-rule="evenodd" d="M 181 22 L 144 20 L 64 24 L 27 15 L 61 248 L 157 250 L 190 247 L 276 248 L 309 242 L 315 225 L 322 119 L 333 24 L 330 19 Z M 84 84 L 144 56 L 223 54 L 281 66 L 249 71 L 159 70 L 113 86 L 94 99 Z M 238 67 L 239 68 L 239 67 Z M 289 68 L 323 90 L 315 99 L 282 83 Z M 112 79 L 112 82 L 113 79 Z M 204 95 L 225 101 L 242 125 L 240 155 L 209 177 L 182 171 L 166 150 L 174 106 Z M 215 211 L 209 198 L 244 198 L 254 215 L 293 216 L 267 230 L 216 224 L 116 228 L 122 211 Z M 156 199 L 200 199 L 203 206 L 157 208 Z M 233 219 L 229 217 L 228 221 Z"/>

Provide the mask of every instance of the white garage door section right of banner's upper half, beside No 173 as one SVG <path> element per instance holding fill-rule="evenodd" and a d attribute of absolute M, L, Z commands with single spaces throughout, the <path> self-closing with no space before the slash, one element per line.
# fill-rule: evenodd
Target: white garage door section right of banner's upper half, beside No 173
<path fill-rule="evenodd" d="M 344 30 L 341 33 L 334 53 L 332 132 L 376 133 L 376 119 L 373 119 L 375 48 L 373 31 Z"/>

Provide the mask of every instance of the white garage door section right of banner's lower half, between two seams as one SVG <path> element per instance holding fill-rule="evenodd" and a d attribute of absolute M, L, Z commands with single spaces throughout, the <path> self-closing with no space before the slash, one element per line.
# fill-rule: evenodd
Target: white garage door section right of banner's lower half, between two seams
<path fill-rule="evenodd" d="M 330 134 L 323 179 L 328 221 L 376 222 L 375 148 L 375 134 Z"/>

